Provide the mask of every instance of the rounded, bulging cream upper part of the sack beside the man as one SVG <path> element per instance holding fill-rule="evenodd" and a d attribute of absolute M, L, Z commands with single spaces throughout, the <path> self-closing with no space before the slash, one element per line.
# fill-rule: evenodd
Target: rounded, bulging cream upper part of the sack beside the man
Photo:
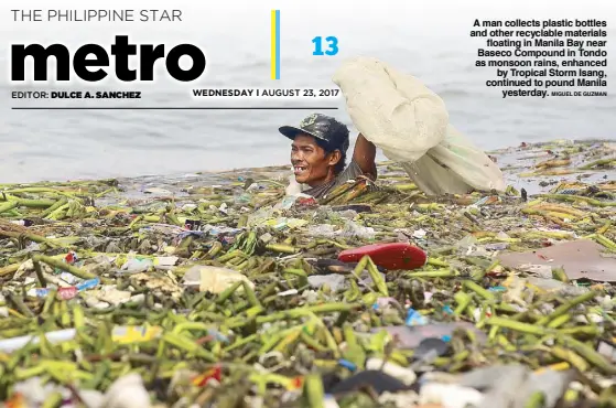
<path fill-rule="evenodd" d="M 445 104 L 412 76 L 358 57 L 343 64 L 333 80 L 346 97 L 355 127 L 390 160 L 417 160 L 444 140 Z"/>

